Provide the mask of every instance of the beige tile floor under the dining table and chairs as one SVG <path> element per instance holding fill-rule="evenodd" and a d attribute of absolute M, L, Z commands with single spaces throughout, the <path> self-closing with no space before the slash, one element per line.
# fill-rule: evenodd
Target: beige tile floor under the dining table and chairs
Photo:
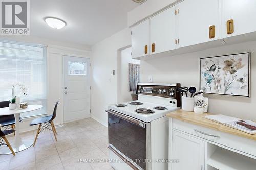
<path fill-rule="evenodd" d="M 0 170 L 6 169 L 83 169 L 110 170 L 108 163 L 77 163 L 79 159 L 107 159 L 108 128 L 92 118 L 82 119 L 39 134 L 35 147 L 12 155 L 0 155 Z M 36 131 L 23 133 L 34 139 Z M 13 137 L 8 137 L 9 141 Z"/>

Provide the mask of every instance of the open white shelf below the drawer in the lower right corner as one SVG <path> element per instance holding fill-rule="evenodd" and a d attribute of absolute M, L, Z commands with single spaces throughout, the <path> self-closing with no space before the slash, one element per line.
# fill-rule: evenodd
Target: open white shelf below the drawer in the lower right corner
<path fill-rule="evenodd" d="M 218 170 L 255 170 L 256 160 L 250 157 L 241 155 L 239 153 L 218 147 L 214 144 L 208 144 L 207 146 L 211 152 L 208 155 L 207 169 Z M 212 168 L 211 168 L 212 167 Z"/>

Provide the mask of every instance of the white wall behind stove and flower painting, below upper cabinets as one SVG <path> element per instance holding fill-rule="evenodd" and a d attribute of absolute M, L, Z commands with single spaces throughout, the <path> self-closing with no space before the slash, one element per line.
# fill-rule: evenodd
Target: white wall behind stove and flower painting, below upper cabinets
<path fill-rule="evenodd" d="M 251 98 L 212 94 L 205 96 L 209 98 L 211 113 L 256 120 L 256 41 L 141 61 L 141 80 L 146 82 L 148 75 L 153 75 L 153 82 L 181 83 L 182 86 L 199 88 L 199 58 L 249 51 L 252 52 Z"/>

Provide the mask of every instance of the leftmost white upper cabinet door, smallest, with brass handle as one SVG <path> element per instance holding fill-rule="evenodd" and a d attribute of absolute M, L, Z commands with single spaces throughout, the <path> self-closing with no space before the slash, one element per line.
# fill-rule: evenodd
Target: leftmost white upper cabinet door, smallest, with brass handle
<path fill-rule="evenodd" d="M 132 28 L 132 58 L 146 56 L 150 52 L 150 21 L 146 20 Z"/>

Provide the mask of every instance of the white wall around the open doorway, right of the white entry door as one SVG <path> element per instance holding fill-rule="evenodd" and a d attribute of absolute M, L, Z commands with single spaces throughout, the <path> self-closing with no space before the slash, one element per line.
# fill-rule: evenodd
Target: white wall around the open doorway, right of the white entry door
<path fill-rule="evenodd" d="M 118 50 L 131 45 L 131 29 L 126 28 L 92 47 L 91 58 L 91 114 L 104 125 L 108 125 L 105 110 L 109 104 L 117 103 Z"/>

